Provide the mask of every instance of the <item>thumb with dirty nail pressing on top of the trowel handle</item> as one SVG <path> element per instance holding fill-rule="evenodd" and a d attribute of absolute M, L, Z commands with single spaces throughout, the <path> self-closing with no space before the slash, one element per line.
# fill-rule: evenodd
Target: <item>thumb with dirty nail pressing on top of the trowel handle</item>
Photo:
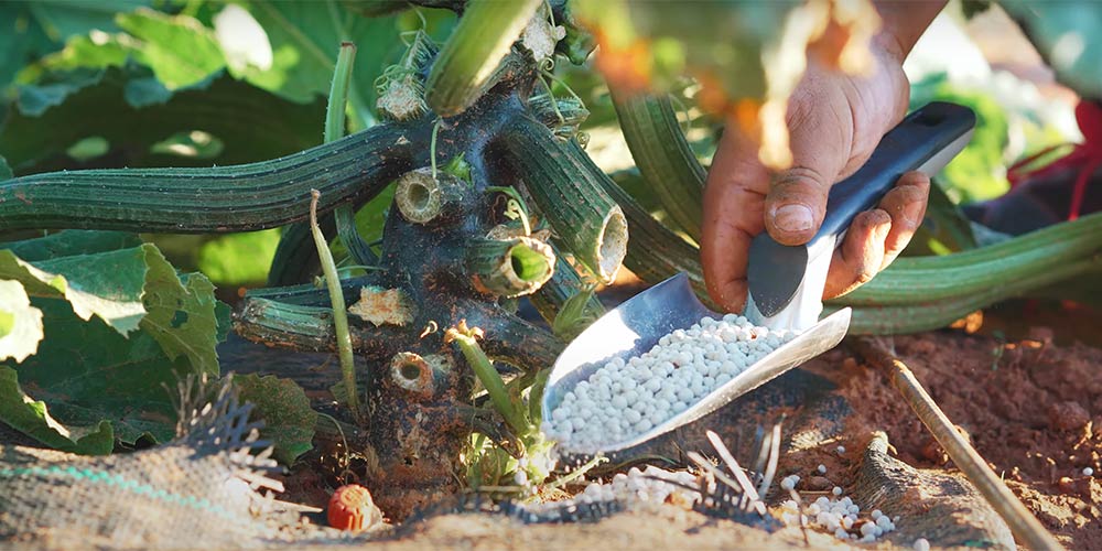
<path fill-rule="evenodd" d="M 777 174 L 765 202 L 766 230 L 784 245 L 806 244 L 819 230 L 853 143 L 847 104 L 813 83 L 800 90 L 788 111 L 792 168 Z"/>

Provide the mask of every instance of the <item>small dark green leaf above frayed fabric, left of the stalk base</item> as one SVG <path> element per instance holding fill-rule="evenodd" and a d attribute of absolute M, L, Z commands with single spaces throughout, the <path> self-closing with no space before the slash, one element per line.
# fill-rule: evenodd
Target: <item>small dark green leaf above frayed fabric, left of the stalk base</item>
<path fill-rule="evenodd" d="M 249 374 L 234 376 L 234 385 L 242 400 L 256 406 L 253 419 L 264 421 L 260 435 L 276 445 L 272 454 L 280 463 L 290 465 L 313 447 L 317 412 L 296 382 Z"/>

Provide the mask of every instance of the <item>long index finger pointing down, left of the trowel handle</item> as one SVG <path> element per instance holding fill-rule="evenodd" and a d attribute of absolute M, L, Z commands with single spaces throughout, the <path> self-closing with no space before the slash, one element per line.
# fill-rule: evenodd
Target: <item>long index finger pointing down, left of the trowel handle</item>
<path fill-rule="evenodd" d="M 728 125 L 704 190 L 701 262 L 707 294 L 724 311 L 746 304 L 746 258 L 750 240 L 765 230 L 763 205 L 769 173 L 757 145 Z"/>

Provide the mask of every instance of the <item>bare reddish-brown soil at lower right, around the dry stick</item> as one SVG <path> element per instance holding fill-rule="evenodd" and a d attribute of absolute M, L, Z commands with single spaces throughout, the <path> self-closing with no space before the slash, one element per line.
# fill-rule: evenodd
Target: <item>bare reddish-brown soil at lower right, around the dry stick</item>
<path fill-rule="evenodd" d="M 1057 346 L 1051 332 L 1003 342 L 957 332 L 894 338 L 896 353 L 981 455 L 1070 549 L 1102 549 L 1102 349 Z M 840 349 L 809 369 L 856 410 L 851 434 L 887 432 L 898 456 L 952 469 L 879 371 Z M 1083 475 L 1084 467 L 1095 471 Z"/>

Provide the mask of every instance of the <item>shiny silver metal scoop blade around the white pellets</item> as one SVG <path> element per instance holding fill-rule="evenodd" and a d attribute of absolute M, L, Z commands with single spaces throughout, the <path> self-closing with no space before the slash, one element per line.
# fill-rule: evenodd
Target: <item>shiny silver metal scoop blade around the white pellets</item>
<path fill-rule="evenodd" d="M 689 409 L 630 440 L 607 442 L 597 449 L 572 450 L 595 454 L 636 446 L 656 436 L 691 423 L 754 390 L 781 374 L 838 346 L 850 327 L 850 309 L 842 309 L 769 353 L 735 378 L 715 389 Z M 720 320 L 722 314 L 696 299 L 689 278 L 674 276 L 624 302 L 575 338 L 559 356 L 543 391 L 543 419 L 562 403 L 563 396 L 587 379 L 613 358 L 625 361 L 642 355 L 662 336 L 684 329 L 704 316 Z"/>

